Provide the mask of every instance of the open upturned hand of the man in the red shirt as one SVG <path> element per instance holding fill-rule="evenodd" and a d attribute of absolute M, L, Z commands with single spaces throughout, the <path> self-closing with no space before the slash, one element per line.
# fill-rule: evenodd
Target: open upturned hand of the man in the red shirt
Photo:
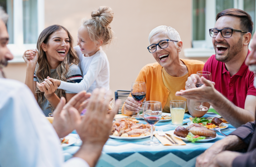
<path fill-rule="evenodd" d="M 176 92 L 176 96 L 181 96 L 186 99 L 193 100 L 195 102 L 211 102 L 214 101 L 214 95 L 217 91 L 214 88 L 215 83 L 205 79 L 203 76 L 200 78 L 200 81 L 204 83 L 200 88 L 192 88 L 188 90 L 181 90 Z"/>

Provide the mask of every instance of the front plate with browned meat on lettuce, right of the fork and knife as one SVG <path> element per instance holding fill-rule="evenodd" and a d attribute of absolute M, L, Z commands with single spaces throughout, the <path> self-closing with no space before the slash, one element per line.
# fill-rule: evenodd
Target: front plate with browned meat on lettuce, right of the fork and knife
<path fill-rule="evenodd" d="M 174 131 L 174 136 L 184 141 L 208 142 L 218 138 L 215 130 L 205 128 L 200 124 L 192 124 L 187 128 L 178 126 Z"/>

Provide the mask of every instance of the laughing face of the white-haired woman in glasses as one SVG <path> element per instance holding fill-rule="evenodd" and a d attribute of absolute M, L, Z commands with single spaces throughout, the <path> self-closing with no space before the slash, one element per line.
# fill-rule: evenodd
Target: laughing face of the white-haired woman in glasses
<path fill-rule="evenodd" d="M 165 34 L 158 33 L 150 39 L 150 45 L 157 44 L 162 40 L 169 39 Z M 169 67 L 174 59 L 179 58 L 178 47 L 173 41 L 168 41 L 168 47 L 161 49 L 157 46 L 157 50 L 152 53 L 156 61 L 164 68 Z"/>

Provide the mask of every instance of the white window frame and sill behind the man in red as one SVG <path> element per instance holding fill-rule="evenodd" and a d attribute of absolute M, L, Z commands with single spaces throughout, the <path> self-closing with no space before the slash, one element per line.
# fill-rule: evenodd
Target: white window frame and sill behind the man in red
<path fill-rule="evenodd" d="M 193 11 L 192 3 L 191 1 L 191 11 Z M 234 0 L 234 8 L 244 10 L 244 0 Z M 216 0 L 205 0 L 205 40 L 193 40 L 193 33 L 191 32 L 193 47 L 184 49 L 185 57 L 210 57 L 215 54 L 209 29 L 215 25 L 216 14 Z M 191 24 L 193 24 L 193 15 L 191 15 Z"/>

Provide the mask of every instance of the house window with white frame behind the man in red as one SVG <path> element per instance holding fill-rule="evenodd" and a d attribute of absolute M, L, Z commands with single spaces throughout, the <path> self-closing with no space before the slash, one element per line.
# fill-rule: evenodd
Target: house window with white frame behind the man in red
<path fill-rule="evenodd" d="M 209 29 L 216 22 L 216 15 L 229 8 L 246 11 L 252 17 L 255 32 L 255 0 L 193 0 L 192 3 L 192 48 L 184 49 L 186 57 L 209 57 L 215 54 Z"/>

